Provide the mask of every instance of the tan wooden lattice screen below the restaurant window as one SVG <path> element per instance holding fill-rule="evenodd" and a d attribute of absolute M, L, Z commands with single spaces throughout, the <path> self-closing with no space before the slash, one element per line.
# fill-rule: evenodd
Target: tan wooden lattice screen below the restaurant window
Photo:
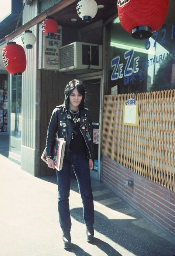
<path fill-rule="evenodd" d="M 123 102 L 139 101 L 138 127 L 122 124 Z M 175 89 L 105 95 L 102 154 L 175 192 Z"/>

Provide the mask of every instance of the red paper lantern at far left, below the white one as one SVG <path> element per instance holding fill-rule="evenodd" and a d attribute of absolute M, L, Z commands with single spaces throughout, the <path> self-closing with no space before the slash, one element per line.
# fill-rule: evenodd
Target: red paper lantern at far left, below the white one
<path fill-rule="evenodd" d="M 4 66 L 12 75 L 22 75 L 26 68 L 23 47 L 16 42 L 8 42 L 2 51 Z"/>

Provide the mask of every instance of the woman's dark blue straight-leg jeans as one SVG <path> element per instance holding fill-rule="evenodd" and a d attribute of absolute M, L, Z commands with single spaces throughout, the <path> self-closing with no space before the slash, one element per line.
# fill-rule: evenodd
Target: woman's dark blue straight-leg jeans
<path fill-rule="evenodd" d="M 68 153 L 64 158 L 61 171 L 56 170 L 58 180 L 59 223 L 63 232 L 71 231 L 69 211 L 69 192 L 71 187 L 71 165 L 78 181 L 79 192 L 83 202 L 83 218 L 86 226 L 94 224 L 93 195 L 90 182 L 89 160 L 86 154 Z"/>

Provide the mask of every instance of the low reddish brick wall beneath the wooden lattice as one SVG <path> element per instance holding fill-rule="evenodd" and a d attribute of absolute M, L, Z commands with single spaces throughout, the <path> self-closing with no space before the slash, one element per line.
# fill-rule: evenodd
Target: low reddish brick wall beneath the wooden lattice
<path fill-rule="evenodd" d="M 133 187 L 126 180 L 134 182 Z M 102 182 L 159 228 L 175 236 L 175 193 L 103 156 Z"/>

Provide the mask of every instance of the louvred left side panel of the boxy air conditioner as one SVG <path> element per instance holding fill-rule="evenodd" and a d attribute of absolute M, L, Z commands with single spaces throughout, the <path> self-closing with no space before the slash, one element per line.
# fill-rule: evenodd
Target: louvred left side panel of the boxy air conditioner
<path fill-rule="evenodd" d="M 68 68 L 74 66 L 74 45 L 59 50 L 59 68 Z"/>

